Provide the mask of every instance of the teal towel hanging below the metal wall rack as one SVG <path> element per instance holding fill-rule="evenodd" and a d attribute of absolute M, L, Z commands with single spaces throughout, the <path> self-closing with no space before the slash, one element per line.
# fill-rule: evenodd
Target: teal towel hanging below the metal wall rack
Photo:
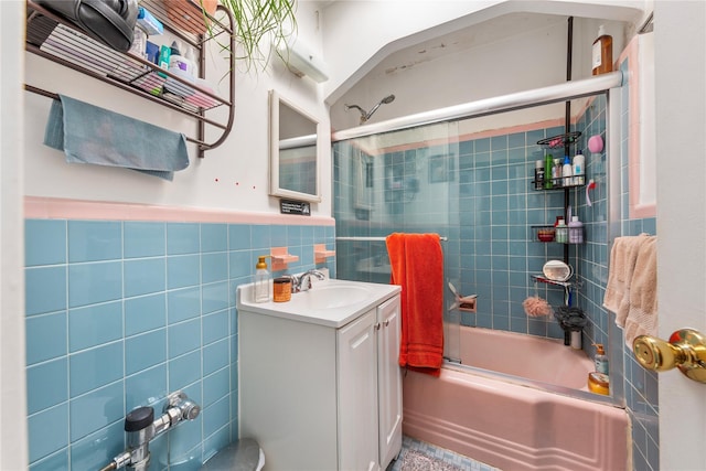
<path fill-rule="evenodd" d="M 171 181 L 189 167 L 184 135 L 60 95 L 44 143 L 69 163 L 122 167 Z"/>

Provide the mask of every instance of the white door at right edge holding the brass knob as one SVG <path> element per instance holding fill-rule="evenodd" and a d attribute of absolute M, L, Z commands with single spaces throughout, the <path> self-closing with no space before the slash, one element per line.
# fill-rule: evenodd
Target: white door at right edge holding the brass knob
<path fill-rule="evenodd" d="M 706 3 L 654 2 L 660 338 L 706 334 Z M 706 384 L 660 373 L 660 469 L 706 470 Z"/>

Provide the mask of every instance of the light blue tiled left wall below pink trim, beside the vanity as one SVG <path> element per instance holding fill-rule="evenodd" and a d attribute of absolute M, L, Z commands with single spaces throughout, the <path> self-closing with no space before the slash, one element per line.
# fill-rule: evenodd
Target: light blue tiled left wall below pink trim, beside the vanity
<path fill-rule="evenodd" d="M 272 242 L 300 256 L 275 276 L 335 277 L 313 258 L 332 226 L 25 221 L 30 469 L 103 468 L 125 415 L 178 389 L 202 414 L 150 445 L 150 469 L 195 470 L 237 438 L 235 292 Z"/>

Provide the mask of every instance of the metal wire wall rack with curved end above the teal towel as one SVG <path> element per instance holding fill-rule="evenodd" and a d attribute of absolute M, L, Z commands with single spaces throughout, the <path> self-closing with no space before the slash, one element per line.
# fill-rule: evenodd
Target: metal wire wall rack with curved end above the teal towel
<path fill-rule="evenodd" d="M 210 40 L 205 40 L 203 34 L 193 32 L 203 29 L 203 25 L 200 24 L 203 22 L 201 8 L 197 3 L 191 1 L 180 2 L 183 6 L 180 7 L 175 17 L 172 12 L 168 12 L 167 1 L 141 0 L 140 4 L 162 22 L 165 32 L 186 43 L 195 51 L 199 76 L 204 77 L 204 50 Z M 176 2 L 173 3 L 176 4 Z M 170 4 L 170 8 L 172 8 L 172 4 Z M 220 30 L 222 31 L 221 36 L 225 34 L 231 39 L 227 57 L 229 68 L 227 75 L 223 78 L 223 82 L 228 84 L 227 98 L 161 69 L 157 64 L 129 53 L 115 51 L 93 40 L 78 26 L 42 8 L 42 6 L 32 0 L 26 0 L 25 50 L 193 118 L 199 124 L 196 135 L 186 137 L 186 140 L 196 143 L 197 154 L 203 158 L 204 151 L 214 149 L 225 141 L 231 133 L 235 118 L 233 103 L 235 97 L 235 57 L 232 52 L 236 50 L 232 34 L 234 19 L 233 14 L 221 4 L 218 4 L 218 11 L 225 13 L 227 24 L 213 17 L 210 17 L 210 20 L 214 32 Z M 175 21 L 173 20 L 174 18 L 176 18 Z M 212 38 L 211 34 L 210 38 Z M 156 95 L 152 93 L 156 89 L 161 89 L 162 84 L 167 81 L 176 92 L 185 92 L 184 95 L 189 95 L 188 99 L 184 96 L 180 96 L 180 94 L 158 93 Z M 50 98 L 58 98 L 56 93 L 32 85 L 25 84 L 24 88 Z M 227 108 L 224 118 L 212 119 L 206 116 L 206 111 L 220 107 Z M 215 140 L 210 142 L 205 141 L 206 126 L 220 130 Z"/>

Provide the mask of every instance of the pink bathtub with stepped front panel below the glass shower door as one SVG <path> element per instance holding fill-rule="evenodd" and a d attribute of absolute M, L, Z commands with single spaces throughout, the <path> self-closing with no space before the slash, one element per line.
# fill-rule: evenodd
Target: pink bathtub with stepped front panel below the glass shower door
<path fill-rule="evenodd" d="M 438 378 L 408 372 L 406 435 L 503 471 L 629 469 L 625 411 L 568 395 L 567 388 L 586 390 L 592 362 L 582 352 L 560 341 L 462 327 L 461 362 L 501 374 L 450 364 Z M 514 378 L 528 374 L 535 377 Z M 533 387 L 537 382 L 554 386 Z"/>

